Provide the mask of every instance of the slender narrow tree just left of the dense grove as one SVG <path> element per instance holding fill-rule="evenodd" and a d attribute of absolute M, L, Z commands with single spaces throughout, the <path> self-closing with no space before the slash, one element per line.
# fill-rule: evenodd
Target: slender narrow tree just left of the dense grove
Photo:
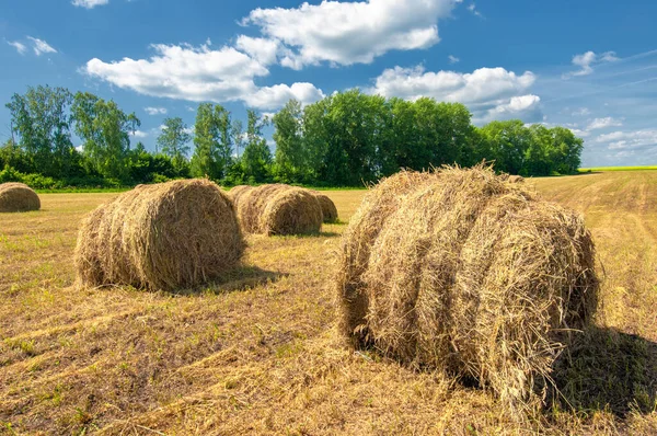
<path fill-rule="evenodd" d="M 246 123 L 246 147 L 240 160 L 244 176 L 250 182 L 262 183 L 269 177 L 269 168 L 272 165 L 272 151 L 267 141 L 263 138 L 263 127 L 267 119 L 262 119 L 260 115 L 249 110 Z"/>

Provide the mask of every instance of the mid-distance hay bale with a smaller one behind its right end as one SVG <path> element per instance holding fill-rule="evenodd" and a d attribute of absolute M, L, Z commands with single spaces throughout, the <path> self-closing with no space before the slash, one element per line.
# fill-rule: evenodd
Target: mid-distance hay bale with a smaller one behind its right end
<path fill-rule="evenodd" d="M 322 227 L 322 207 L 302 187 L 262 185 L 247 191 L 237 208 L 242 230 L 247 233 L 308 234 Z"/>

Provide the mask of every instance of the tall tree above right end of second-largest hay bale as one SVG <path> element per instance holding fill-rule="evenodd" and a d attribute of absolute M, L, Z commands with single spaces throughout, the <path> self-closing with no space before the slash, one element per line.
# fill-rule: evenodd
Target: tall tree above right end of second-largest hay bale
<path fill-rule="evenodd" d="M 198 105 L 194 145 L 193 175 L 223 179 L 232 160 L 230 113 L 223 106 L 211 103 Z"/>

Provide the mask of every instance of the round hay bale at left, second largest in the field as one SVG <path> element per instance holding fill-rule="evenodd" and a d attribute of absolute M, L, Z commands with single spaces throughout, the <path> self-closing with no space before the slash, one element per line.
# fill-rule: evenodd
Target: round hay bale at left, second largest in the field
<path fill-rule="evenodd" d="M 244 241 L 230 198 L 206 180 L 141 185 L 82 221 L 76 248 L 87 286 L 192 288 L 239 263 Z"/>

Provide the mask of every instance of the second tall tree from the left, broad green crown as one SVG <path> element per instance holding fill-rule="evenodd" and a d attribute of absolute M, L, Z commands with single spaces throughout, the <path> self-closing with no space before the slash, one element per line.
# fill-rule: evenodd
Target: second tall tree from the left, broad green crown
<path fill-rule="evenodd" d="M 126 114 L 113 101 L 105 101 L 89 92 L 73 97 L 76 134 L 84 140 L 84 154 L 93 170 L 119 181 L 128 180 L 126 159 L 130 150 L 129 134 L 141 122 L 135 113 Z"/>

